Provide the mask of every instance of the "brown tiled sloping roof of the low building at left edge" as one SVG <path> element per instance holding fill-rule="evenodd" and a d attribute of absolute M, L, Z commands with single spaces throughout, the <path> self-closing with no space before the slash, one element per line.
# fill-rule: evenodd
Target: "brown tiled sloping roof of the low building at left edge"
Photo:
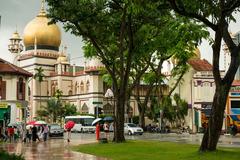
<path fill-rule="evenodd" d="M 25 71 L 24 69 L 17 67 L 1 58 L 0 58 L 0 73 L 24 75 L 27 77 L 33 76 L 30 72 Z"/>

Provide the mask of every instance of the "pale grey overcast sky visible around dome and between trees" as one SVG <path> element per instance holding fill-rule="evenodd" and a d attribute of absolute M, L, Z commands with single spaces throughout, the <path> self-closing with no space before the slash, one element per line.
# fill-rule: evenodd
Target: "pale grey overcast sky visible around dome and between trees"
<path fill-rule="evenodd" d="M 0 58 L 12 61 L 12 55 L 8 51 L 9 38 L 16 30 L 23 35 L 24 27 L 36 17 L 41 7 L 41 0 L 0 0 L 0 15 L 2 16 L 0 28 Z M 237 16 L 237 23 L 230 25 L 230 31 L 240 31 L 240 16 Z M 67 53 L 71 58 L 81 57 L 82 42 L 70 33 L 65 33 L 61 24 L 58 24 L 62 32 L 62 44 L 67 45 Z M 199 46 L 202 58 L 212 62 L 212 51 L 208 42 L 203 41 Z M 73 59 L 72 63 L 83 64 L 83 58 Z"/>

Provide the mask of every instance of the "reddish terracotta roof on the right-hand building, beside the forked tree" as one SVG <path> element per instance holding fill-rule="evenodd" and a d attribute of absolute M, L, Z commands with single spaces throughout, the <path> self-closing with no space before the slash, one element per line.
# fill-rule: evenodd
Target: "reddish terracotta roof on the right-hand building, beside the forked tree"
<path fill-rule="evenodd" d="M 205 59 L 191 59 L 188 64 L 196 71 L 212 71 L 212 65 Z"/>

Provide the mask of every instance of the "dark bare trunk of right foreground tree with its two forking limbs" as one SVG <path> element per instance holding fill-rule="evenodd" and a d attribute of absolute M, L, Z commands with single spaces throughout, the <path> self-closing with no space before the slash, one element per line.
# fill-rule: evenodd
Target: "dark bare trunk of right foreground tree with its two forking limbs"
<path fill-rule="evenodd" d="M 206 132 L 204 133 L 202 144 L 199 148 L 199 150 L 202 152 L 216 150 L 217 143 L 222 131 L 224 110 L 226 107 L 228 92 L 231 88 L 232 82 L 240 64 L 240 48 L 233 43 L 227 28 L 228 25 L 223 20 L 222 24 L 219 24 L 218 30 L 215 32 L 215 42 L 213 45 L 213 75 L 216 89 L 213 98 L 212 112 L 209 119 L 209 125 Z M 222 36 L 231 53 L 230 66 L 224 78 L 221 78 L 219 72 L 219 57 Z"/>

